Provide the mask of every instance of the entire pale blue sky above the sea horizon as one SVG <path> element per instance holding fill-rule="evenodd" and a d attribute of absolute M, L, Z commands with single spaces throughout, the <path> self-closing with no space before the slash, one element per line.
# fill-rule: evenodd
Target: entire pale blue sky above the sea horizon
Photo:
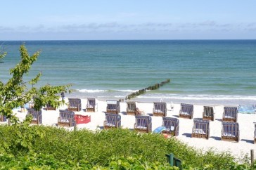
<path fill-rule="evenodd" d="M 255 0 L 6 0 L 0 40 L 256 39 Z"/>

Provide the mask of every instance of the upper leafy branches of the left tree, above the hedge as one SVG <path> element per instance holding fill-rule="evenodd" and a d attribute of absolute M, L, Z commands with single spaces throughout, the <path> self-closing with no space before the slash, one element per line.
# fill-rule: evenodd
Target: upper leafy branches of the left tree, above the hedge
<path fill-rule="evenodd" d="M 37 84 L 41 73 L 37 74 L 34 79 L 30 81 L 23 81 L 23 77 L 30 71 L 31 65 L 37 60 L 40 51 L 37 51 L 33 55 L 29 55 L 25 45 L 20 46 L 20 63 L 18 63 L 13 69 L 10 70 L 12 75 L 6 84 L 0 79 L 0 113 L 6 115 L 11 119 L 14 124 L 18 122 L 18 119 L 13 116 L 13 109 L 15 107 L 23 107 L 25 103 L 34 100 L 34 109 L 40 110 L 46 104 L 58 107 L 64 103 L 64 100 L 60 100 L 60 96 L 57 94 L 65 91 L 69 91 L 70 84 L 63 86 L 50 86 L 46 84 L 39 88 L 33 86 Z M 2 53 L 6 55 L 6 53 Z M 70 92 L 70 91 L 69 91 Z"/>

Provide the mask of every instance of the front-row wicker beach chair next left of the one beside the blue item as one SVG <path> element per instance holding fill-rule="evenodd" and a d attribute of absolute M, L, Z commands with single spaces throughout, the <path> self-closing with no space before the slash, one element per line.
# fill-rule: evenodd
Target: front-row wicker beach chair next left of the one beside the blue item
<path fill-rule="evenodd" d="M 152 131 L 152 119 L 150 116 L 135 116 L 134 130 L 144 133 L 151 133 Z"/>

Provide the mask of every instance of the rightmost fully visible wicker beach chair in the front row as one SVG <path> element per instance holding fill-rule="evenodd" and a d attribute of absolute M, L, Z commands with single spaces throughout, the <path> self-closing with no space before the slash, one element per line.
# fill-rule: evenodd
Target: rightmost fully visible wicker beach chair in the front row
<path fill-rule="evenodd" d="M 222 122 L 222 140 L 239 141 L 239 124 L 236 122 Z"/>

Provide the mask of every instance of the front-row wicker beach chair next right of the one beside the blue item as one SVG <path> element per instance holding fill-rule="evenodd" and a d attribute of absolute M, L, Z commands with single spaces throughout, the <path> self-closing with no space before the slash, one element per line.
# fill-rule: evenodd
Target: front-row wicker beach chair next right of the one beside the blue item
<path fill-rule="evenodd" d="M 191 138 L 206 138 L 210 136 L 209 120 L 194 119 Z"/>

